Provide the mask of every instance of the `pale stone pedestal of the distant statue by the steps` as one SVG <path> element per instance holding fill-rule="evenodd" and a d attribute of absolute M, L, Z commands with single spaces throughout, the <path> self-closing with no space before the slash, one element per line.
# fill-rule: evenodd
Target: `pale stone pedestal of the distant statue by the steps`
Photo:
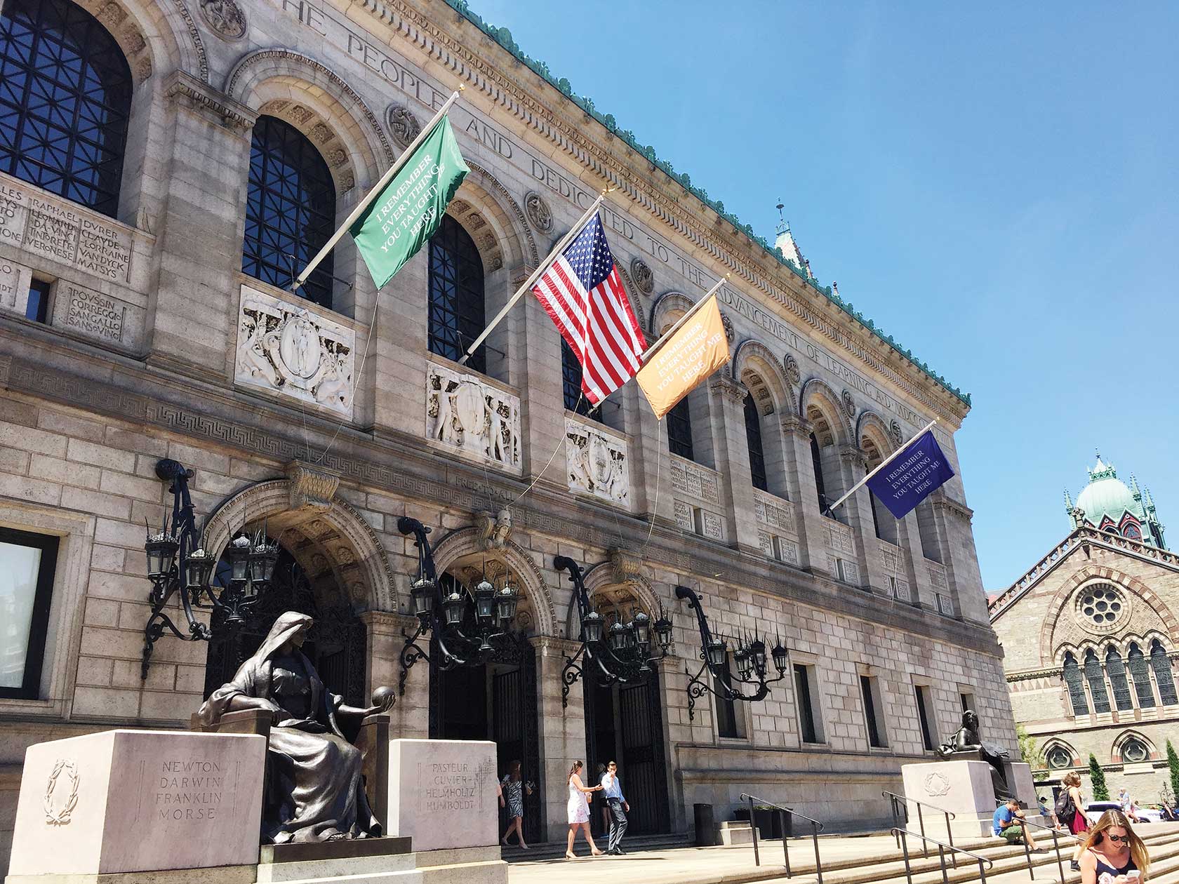
<path fill-rule="evenodd" d="M 1007 761 L 1003 773 L 1021 804 L 1035 810 L 1039 805 L 1032 768 L 1019 761 Z M 930 838 L 946 840 L 946 817 L 940 811 L 954 814 L 950 829 L 955 838 L 979 838 L 994 833 L 990 820 L 999 804 L 990 780 L 990 765 L 986 761 L 905 764 L 901 766 L 901 777 L 904 783 L 902 791 L 913 799 L 909 803 L 910 832 L 921 833 L 915 801 L 922 801 L 926 834 Z M 1033 823 L 1045 824 L 1039 813 L 1028 813 L 1027 818 Z"/>

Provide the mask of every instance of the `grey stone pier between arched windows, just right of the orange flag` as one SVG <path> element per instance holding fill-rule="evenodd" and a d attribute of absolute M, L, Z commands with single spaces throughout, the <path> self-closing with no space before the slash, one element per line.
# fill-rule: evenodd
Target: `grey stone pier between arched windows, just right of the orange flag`
<path fill-rule="evenodd" d="M 745 438 L 745 385 L 722 374 L 709 382 L 712 453 L 722 476 L 729 517 L 729 546 L 762 555 L 753 509 L 753 479 Z M 718 420 L 719 418 L 719 420 Z"/>

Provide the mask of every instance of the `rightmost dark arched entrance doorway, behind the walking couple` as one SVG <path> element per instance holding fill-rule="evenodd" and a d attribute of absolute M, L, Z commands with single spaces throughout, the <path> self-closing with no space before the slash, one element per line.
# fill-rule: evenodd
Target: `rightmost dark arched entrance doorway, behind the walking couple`
<path fill-rule="evenodd" d="M 598 765 L 618 761 L 623 794 L 631 805 L 627 836 L 660 834 L 671 830 L 667 767 L 663 738 L 659 674 L 633 685 L 601 687 L 584 679 L 586 704 L 586 764 L 597 784 Z M 594 796 L 591 826 L 605 833 L 605 801 Z"/>

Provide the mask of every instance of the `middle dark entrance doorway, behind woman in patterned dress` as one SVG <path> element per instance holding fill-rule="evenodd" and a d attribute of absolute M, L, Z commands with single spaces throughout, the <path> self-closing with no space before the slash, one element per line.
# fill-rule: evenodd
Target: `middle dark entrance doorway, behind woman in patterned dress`
<path fill-rule="evenodd" d="M 523 797 L 523 837 L 542 837 L 540 750 L 536 718 L 536 653 L 527 639 L 501 644 L 483 666 L 440 668 L 440 652 L 430 644 L 430 739 L 494 740 L 496 776 L 512 761 L 521 763 L 521 776 L 533 784 Z M 500 831 L 507 827 L 500 811 Z M 513 843 L 514 843 L 513 836 Z"/>

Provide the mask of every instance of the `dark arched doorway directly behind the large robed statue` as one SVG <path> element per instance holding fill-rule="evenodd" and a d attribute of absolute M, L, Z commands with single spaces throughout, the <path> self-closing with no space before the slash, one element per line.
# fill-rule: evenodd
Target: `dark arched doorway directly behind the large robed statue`
<path fill-rule="evenodd" d="M 220 581 L 226 579 L 228 569 L 228 561 L 222 559 L 215 581 L 224 586 Z M 205 659 L 205 697 L 233 678 L 238 666 L 261 647 L 283 612 L 297 611 L 315 618 L 302 649 L 324 686 L 351 706 L 368 706 L 364 692 L 368 634 L 349 601 L 335 591 L 334 581 L 330 582 L 331 587 L 325 583 L 312 587 L 295 558 L 279 548 L 270 588 L 241 629 L 228 633 L 223 616 L 213 612 L 213 639 Z"/>

